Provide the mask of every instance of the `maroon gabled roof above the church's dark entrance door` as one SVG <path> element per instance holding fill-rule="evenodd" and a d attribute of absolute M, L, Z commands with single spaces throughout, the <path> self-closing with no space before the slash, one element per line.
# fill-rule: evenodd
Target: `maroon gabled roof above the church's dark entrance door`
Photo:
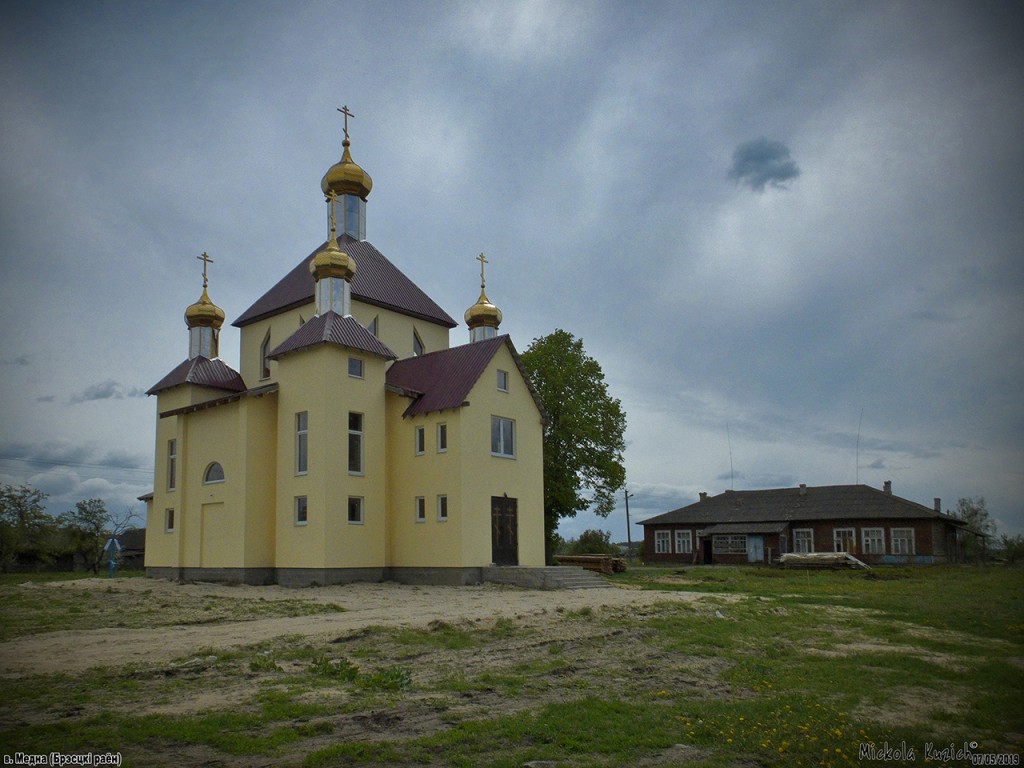
<path fill-rule="evenodd" d="M 538 411 L 544 415 L 544 408 L 537 390 L 526 375 L 512 340 L 508 336 L 497 336 L 485 341 L 476 341 L 450 349 L 407 357 L 397 360 L 387 372 L 387 385 L 392 391 L 413 398 L 413 402 L 402 416 L 417 416 L 434 411 L 462 408 L 466 403 L 469 390 L 473 388 L 495 354 L 502 347 L 512 353 L 523 381 L 529 388 Z"/>

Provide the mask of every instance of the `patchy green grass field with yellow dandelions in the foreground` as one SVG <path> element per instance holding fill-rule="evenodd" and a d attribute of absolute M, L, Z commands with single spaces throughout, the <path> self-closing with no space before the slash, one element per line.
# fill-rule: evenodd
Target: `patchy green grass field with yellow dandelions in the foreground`
<path fill-rule="evenodd" d="M 170 665 L 6 679 L 0 753 L 113 751 L 140 766 L 738 767 L 971 765 L 955 754 L 965 742 L 1011 759 L 1024 749 L 1020 568 L 635 568 L 609 581 L 700 594 L 566 610 L 547 593 L 550 607 L 521 620 L 280 637 L 182 648 Z M 4 638 L 76 615 L 27 593 L 0 582 Z M 152 606 L 100 590 L 79 628 L 209 621 L 244 632 L 266 611 L 325 609 L 302 596 Z"/>

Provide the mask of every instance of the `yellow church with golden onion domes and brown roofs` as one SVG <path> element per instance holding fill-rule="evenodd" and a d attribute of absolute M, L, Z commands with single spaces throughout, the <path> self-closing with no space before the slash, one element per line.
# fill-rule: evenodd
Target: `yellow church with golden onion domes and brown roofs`
<path fill-rule="evenodd" d="M 543 412 L 484 292 L 455 321 L 366 239 L 372 181 L 324 176 L 330 237 L 234 321 L 185 310 L 157 398 L 146 573 L 246 584 L 471 584 L 544 565 Z M 340 230 L 340 234 L 339 234 Z"/>

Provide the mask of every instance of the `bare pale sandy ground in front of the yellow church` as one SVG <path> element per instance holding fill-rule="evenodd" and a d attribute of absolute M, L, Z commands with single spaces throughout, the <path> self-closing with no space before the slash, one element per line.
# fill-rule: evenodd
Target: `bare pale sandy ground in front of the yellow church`
<path fill-rule="evenodd" d="M 497 585 L 478 587 L 411 587 L 354 584 L 311 589 L 177 584 L 152 579 L 85 579 L 39 585 L 46 590 L 109 590 L 162 595 L 216 595 L 240 600 L 311 600 L 333 603 L 341 612 L 259 618 L 210 625 L 172 625 L 153 629 L 99 629 L 50 632 L 0 643 L 0 675 L 74 674 L 93 667 L 131 663 L 159 664 L 200 648 L 223 650 L 283 635 L 336 638 L 372 626 L 425 627 L 434 621 L 458 623 L 526 617 L 562 608 L 641 607 L 655 602 L 693 601 L 706 594 L 645 592 L 606 587 L 589 590 L 521 590 Z"/>

